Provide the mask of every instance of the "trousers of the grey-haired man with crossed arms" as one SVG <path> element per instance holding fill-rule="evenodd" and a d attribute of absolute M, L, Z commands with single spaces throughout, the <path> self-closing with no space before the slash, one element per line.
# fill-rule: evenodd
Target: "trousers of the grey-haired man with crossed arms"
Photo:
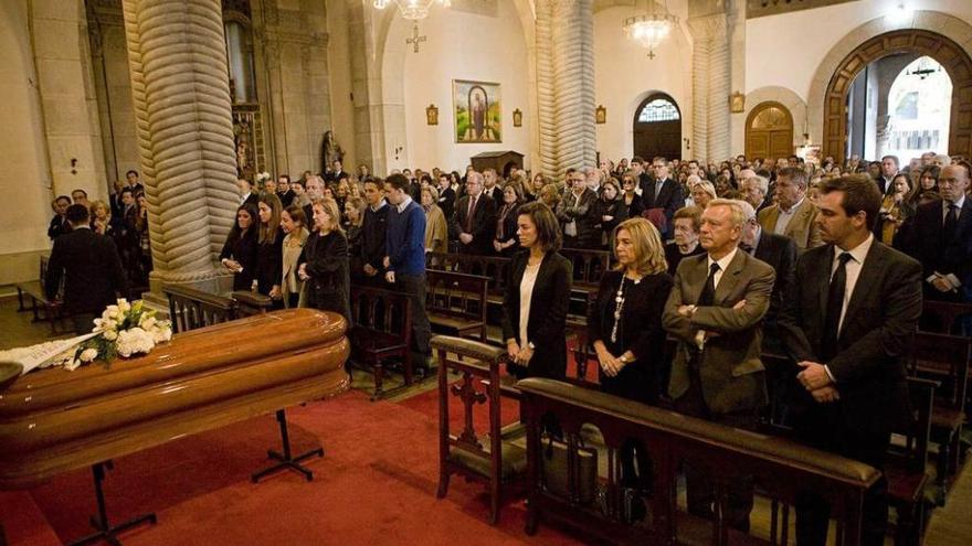
<path fill-rule="evenodd" d="M 712 413 L 702 396 L 701 379 L 695 363 L 689 366 L 689 374 L 690 383 L 688 390 L 675 400 L 676 411 L 726 425 L 727 427 L 756 430 L 759 424 L 759 416 L 756 409 L 729 414 Z M 716 488 L 710 478 L 710 469 L 696 467 L 690 463 L 686 463 L 684 467 L 688 513 L 711 520 L 716 501 Z M 735 480 L 727 488 L 726 504 L 722 506 L 722 518 L 726 524 L 743 533 L 749 533 L 749 514 L 752 512 L 752 477 Z"/>

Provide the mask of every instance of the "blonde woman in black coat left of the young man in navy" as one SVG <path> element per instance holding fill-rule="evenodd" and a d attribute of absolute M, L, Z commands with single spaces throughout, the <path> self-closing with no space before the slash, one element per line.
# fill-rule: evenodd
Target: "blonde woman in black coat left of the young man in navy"
<path fill-rule="evenodd" d="M 341 213 L 334 200 L 316 201 L 314 233 L 307 237 L 297 260 L 297 276 L 306 281 L 307 307 L 340 313 L 351 324 L 351 279 L 348 239 L 341 229 Z"/>

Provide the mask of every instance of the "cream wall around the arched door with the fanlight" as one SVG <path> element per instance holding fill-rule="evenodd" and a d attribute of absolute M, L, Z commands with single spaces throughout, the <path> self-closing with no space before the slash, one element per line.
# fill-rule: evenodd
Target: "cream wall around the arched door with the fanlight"
<path fill-rule="evenodd" d="M 687 10 L 685 2 L 668 4 L 682 24 L 655 51 L 654 60 L 622 32 L 622 23 L 633 8 L 613 7 L 594 13 L 595 101 L 608 109 L 608 122 L 596 126 L 601 158 L 631 158 L 635 110 L 655 92 L 667 93 L 678 104 L 682 154 L 691 154 L 685 142 L 691 137 L 691 39 L 683 26 Z"/>

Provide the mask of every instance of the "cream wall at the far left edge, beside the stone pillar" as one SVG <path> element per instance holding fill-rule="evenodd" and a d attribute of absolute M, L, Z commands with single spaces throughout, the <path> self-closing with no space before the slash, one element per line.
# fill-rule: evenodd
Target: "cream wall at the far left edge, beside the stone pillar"
<path fill-rule="evenodd" d="M 36 278 L 50 248 L 51 174 L 28 25 L 27 0 L 0 2 L 0 286 Z"/>

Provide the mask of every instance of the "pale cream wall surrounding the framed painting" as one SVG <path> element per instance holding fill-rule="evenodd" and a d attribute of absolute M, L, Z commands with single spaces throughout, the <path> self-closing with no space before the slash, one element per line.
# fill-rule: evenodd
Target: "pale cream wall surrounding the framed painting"
<path fill-rule="evenodd" d="M 529 100 L 527 45 L 513 0 L 498 0 L 497 4 L 495 17 L 436 4 L 419 23 L 419 34 L 426 41 L 420 43 L 418 53 L 405 43 L 412 36 L 411 22 L 395 17 L 382 66 L 389 171 L 439 167 L 463 172 L 469 157 L 496 150 L 518 151 L 529 163 L 529 119 L 535 108 Z M 455 142 L 453 79 L 500 84 L 501 142 Z M 439 108 L 439 125 L 426 125 L 429 105 Z M 513 126 L 514 109 L 524 114 L 521 127 Z"/>

